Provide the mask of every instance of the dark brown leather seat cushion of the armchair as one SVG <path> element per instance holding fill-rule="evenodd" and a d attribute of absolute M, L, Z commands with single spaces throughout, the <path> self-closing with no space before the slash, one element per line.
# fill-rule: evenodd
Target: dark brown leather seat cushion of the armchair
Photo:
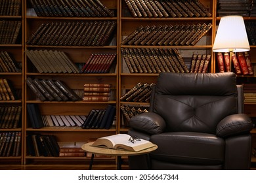
<path fill-rule="evenodd" d="M 224 161 L 225 142 L 213 134 L 167 132 L 152 135 L 150 141 L 158 144 L 150 154 L 152 159 L 197 165 L 221 165 Z"/>

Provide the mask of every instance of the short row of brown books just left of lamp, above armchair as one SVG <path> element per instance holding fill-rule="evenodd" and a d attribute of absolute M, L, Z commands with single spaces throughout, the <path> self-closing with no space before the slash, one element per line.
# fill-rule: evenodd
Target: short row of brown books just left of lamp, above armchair
<path fill-rule="evenodd" d="M 211 61 L 209 54 L 193 54 L 190 66 L 190 73 L 207 73 Z"/>

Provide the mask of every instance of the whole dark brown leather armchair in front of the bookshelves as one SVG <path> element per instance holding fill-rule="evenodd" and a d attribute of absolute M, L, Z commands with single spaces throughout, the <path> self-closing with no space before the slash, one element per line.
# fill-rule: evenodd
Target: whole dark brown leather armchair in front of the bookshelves
<path fill-rule="evenodd" d="M 234 73 L 160 73 L 150 111 L 128 132 L 158 149 L 130 156 L 130 169 L 249 169 L 253 124 L 243 110 Z"/>

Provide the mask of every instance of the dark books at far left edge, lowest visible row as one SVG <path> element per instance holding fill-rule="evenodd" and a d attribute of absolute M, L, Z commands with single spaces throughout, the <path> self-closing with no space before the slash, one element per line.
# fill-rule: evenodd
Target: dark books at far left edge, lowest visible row
<path fill-rule="evenodd" d="M 20 156 L 21 132 L 1 131 L 0 132 L 0 156 Z"/>

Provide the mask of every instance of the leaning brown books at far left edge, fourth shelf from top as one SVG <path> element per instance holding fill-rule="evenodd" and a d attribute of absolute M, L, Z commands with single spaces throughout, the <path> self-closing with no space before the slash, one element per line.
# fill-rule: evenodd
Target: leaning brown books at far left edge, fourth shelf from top
<path fill-rule="evenodd" d="M 11 80 L 0 78 L 0 101 L 14 101 L 16 99 L 18 99 L 18 97 L 12 87 Z"/>

